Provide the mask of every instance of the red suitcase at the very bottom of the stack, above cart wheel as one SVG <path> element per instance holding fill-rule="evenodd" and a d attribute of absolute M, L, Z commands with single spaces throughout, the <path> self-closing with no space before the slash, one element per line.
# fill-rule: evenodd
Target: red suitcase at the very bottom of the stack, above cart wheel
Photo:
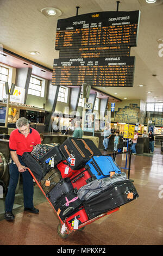
<path fill-rule="evenodd" d="M 66 218 L 66 224 L 68 226 L 68 229 L 70 229 L 70 230 L 73 229 L 73 223 L 74 223 L 75 218 L 79 221 L 79 225 L 88 220 L 88 217 L 86 215 L 84 208 L 78 209 L 78 211 L 75 214 Z"/>

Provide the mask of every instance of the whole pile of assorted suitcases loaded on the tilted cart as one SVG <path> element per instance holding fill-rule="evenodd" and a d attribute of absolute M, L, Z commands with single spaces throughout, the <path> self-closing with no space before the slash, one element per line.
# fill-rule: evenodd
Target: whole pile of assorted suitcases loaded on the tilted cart
<path fill-rule="evenodd" d="M 22 160 L 70 230 L 74 220 L 82 224 L 139 197 L 126 173 L 91 139 L 38 144 Z"/>

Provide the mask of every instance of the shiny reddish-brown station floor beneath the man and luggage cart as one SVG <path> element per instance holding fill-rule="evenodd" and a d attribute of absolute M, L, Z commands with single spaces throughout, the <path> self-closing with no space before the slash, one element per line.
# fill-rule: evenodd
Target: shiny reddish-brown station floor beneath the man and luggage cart
<path fill-rule="evenodd" d="M 87 225 L 83 231 L 72 232 L 66 239 L 58 236 L 59 219 L 35 186 L 34 203 L 40 213 L 29 214 L 23 206 L 18 207 L 13 210 L 14 222 L 3 220 L 1 214 L 0 245 L 162 245 L 162 160 L 160 148 L 155 148 L 153 155 L 133 155 L 130 179 L 134 180 L 139 198 Z M 118 155 L 116 162 L 125 167 L 126 158 Z M 21 194 L 16 196 L 15 204 L 23 205 Z"/>

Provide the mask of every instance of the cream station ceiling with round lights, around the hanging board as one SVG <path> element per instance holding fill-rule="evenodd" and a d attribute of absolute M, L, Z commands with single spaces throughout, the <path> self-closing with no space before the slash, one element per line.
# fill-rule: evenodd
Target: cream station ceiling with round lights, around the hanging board
<path fill-rule="evenodd" d="M 47 69 L 53 69 L 53 59 L 59 57 L 59 52 L 54 49 L 57 20 L 76 16 L 77 6 L 80 7 L 78 15 L 116 11 L 117 1 L 1 0 L 1 47 Z M 46 7 L 60 9 L 61 16 L 45 16 L 41 10 Z M 163 0 L 157 0 L 154 4 L 148 4 L 146 0 L 120 1 L 118 11 L 133 10 L 141 11 L 137 46 L 131 47 L 130 51 L 130 56 L 135 56 L 134 86 L 107 87 L 100 90 L 121 100 L 127 97 L 127 100 L 163 102 Z M 40 54 L 32 56 L 30 51 Z M 0 62 L 4 63 L 4 58 L 1 54 Z M 24 66 L 23 62 L 19 65 Z M 47 78 L 50 78 L 48 70 Z M 141 84 L 143 87 L 139 87 Z"/>

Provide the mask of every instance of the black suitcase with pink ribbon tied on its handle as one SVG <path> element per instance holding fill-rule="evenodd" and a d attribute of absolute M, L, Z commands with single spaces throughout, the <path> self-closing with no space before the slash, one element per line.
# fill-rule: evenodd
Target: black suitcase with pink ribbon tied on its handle
<path fill-rule="evenodd" d="M 54 208 L 57 211 L 57 214 L 64 220 L 64 218 L 73 214 L 80 206 L 82 202 L 78 198 L 77 194 L 74 191 L 69 191 L 60 197 L 54 204 Z"/>

